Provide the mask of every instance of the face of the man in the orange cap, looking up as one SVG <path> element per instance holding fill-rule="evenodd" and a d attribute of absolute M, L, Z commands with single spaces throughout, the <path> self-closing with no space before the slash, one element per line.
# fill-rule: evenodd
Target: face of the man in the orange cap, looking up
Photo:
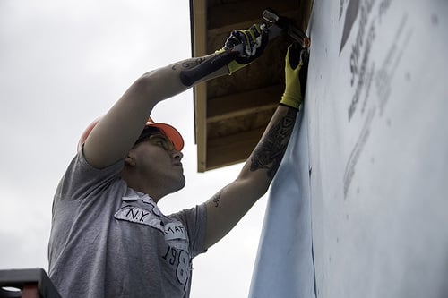
<path fill-rule="evenodd" d="M 134 147 L 136 166 L 153 187 L 177 192 L 185 186 L 184 155 L 162 133 L 151 134 Z"/>

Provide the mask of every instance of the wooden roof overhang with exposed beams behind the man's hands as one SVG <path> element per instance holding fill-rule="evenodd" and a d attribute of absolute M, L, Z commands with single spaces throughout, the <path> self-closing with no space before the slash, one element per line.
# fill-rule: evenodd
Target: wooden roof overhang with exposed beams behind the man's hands
<path fill-rule="evenodd" d="M 192 54 L 220 49 L 232 30 L 262 22 L 268 7 L 306 31 L 311 0 L 190 0 Z M 284 55 L 291 41 L 286 36 L 275 38 L 253 64 L 194 87 L 198 172 L 249 157 L 280 101 Z"/>

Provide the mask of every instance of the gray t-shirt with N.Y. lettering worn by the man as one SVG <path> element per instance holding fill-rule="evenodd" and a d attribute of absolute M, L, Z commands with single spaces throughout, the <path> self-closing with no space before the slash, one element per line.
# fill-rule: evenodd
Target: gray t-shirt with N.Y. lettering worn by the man
<path fill-rule="evenodd" d="M 164 216 L 120 179 L 123 166 L 73 158 L 53 202 L 49 276 L 64 298 L 188 297 L 205 205 Z"/>

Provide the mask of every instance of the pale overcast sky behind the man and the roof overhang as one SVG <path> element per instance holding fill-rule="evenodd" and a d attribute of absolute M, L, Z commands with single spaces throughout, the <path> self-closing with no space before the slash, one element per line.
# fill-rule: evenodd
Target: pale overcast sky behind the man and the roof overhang
<path fill-rule="evenodd" d="M 189 1 L 0 1 L 0 268 L 45 268 L 53 194 L 85 126 L 143 72 L 191 55 Z M 207 200 L 240 165 L 196 173 L 193 92 L 152 113 L 185 138 L 184 190 L 166 214 Z M 192 297 L 247 296 L 266 199 L 194 259 Z"/>

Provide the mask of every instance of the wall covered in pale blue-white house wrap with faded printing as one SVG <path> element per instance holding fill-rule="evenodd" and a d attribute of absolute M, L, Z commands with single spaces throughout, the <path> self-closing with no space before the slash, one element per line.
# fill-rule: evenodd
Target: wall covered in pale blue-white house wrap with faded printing
<path fill-rule="evenodd" d="M 447 15 L 444 0 L 314 1 L 251 297 L 448 297 Z"/>

